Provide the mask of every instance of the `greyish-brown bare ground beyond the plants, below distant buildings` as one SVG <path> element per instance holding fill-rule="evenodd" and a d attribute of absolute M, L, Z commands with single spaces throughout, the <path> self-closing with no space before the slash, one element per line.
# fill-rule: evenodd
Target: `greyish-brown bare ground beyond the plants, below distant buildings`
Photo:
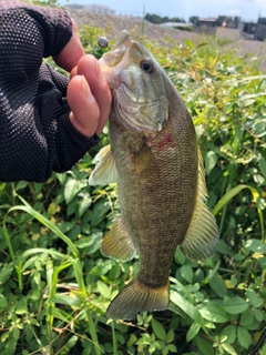
<path fill-rule="evenodd" d="M 167 29 L 147 21 L 143 23 L 140 18 L 103 16 L 73 9 L 69 9 L 68 11 L 78 26 L 85 23 L 88 26 L 102 28 L 102 34 L 109 39 L 117 38 L 119 33 L 124 29 L 133 33 L 134 37 L 141 37 L 142 32 L 144 32 L 146 39 L 158 43 L 158 45 L 164 45 L 168 38 L 173 39 L 176 43 L 182 43 L 185 39 L 194 42 L 201 41 L 202 39 L 202 34 Z M 266 42 L 237 39 L 228 45 L 236 50 L 239 55 L 253 54 L 253 60 L 258 64 L 258 69 L 266 71 Z"/>

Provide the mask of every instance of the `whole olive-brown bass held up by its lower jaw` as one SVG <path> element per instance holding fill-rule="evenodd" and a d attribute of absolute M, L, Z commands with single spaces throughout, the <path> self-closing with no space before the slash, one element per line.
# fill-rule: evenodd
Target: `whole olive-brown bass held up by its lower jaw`
<path fill-rule="evenodd" d="M 96 155 L 89 184 L 117 184 L 120 214 L 103 237 L 103 255 L 140 257 L 137 275 L 106 310 L 109 318 L 130 321 L 168 307 L 177 246 L 204 260 L 219 233 L 193 121 L 167 74 L 126 30 L 99 63 L 112 91 L 110 145 Z"/>

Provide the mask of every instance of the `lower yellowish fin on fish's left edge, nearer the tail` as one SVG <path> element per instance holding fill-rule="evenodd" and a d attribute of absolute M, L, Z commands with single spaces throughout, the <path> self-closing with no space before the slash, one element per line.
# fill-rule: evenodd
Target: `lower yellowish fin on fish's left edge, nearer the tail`
<path fill-rule="evenodd" d="M 135 246 L 121 215 L 116 216 L 113 227 L 105 234 L 101 252 L 105 256 L 114 256 L 123 261 L 129 261 L 135 256 Z"/>

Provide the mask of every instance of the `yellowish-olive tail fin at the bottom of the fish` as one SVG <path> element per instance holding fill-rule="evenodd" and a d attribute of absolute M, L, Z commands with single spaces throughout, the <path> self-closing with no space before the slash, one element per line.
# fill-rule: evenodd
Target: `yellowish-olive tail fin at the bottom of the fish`
<path fill-rule="evenodd" d="M 145 311 L 163 311 L 168 307 L 168 283 L 151 287 L 137 280 L 131 281 L 111 302 L 106 316 L 112 320 L 134 320 Z"/>

